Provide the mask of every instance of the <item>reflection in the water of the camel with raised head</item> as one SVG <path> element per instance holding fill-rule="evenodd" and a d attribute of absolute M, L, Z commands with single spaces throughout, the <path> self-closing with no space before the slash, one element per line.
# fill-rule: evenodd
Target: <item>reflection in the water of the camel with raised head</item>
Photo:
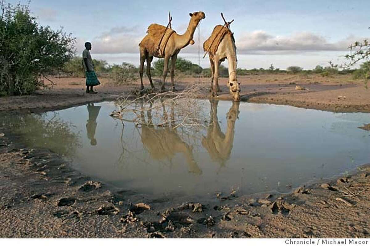
<path fill-rule="evenodd" d="M 193 157 L 193 147 L 181 140 L 176 130 L 172 129 L 174 122 L 174 109 L 172 105 L 171 120 L 168 120 L 164 105 L 164 121 L 162 128 L 155 129 L 152 122 L 151 110 L 147 111 L 148 122 L 145 122 L 144 110 L 141 110 L 141 141 L 147 148 L 150 156 L 156 160 L 171 160 L 176 153 L 183 153 L 189 165 L 189 172 L 202 174 L 202 170 L 196 164 Z"/>

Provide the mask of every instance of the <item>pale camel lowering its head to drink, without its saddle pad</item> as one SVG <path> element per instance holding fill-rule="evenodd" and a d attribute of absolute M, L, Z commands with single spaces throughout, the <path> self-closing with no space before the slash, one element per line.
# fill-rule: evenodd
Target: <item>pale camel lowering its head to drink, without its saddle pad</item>
<path fill-rule="evenodd" d="M 204 46 L 203 46 L 204 47 Z M 231 32 L 225 34 L 222 38 L 216 54 L 211 54 L 208 52 L 209 62 L 211 63 L 211 92 L 212 96 L 217 96 L 217 92 L 220 92 L 220 87 L 218 85 L 218 69 L 221 65 L 221 62 L 228 59 L 229 64 L 229 81 L 228 87 L 233 100 L 235 102 L 240 100 L 240 82 L 236 79 L 236 46 L 235 39 Z"/>

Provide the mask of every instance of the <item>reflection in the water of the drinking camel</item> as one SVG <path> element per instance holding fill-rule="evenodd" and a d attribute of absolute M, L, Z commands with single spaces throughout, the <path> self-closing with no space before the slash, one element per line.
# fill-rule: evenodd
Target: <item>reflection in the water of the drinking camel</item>
<path fill-rule="evenodd" d="M 227 128 L 223 134 L 217 117 L 218 100 L 211 100 L 211 123 L 208 126 L 207 136 L 202 138 L 202 145 L 209 153 L 213 161 L 221 166 L 229 160 L 234 141 L 235 121 L 239 115 L 239 102 L 233 102 L 226 114 Z"/>

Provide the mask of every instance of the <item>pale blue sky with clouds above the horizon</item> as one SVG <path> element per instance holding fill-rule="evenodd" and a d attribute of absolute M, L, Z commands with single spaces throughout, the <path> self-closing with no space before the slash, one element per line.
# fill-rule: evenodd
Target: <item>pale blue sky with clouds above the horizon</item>
<path fill-rule="evenodd" d="M 11 4 L 28 1 L 8 0 Z M 238 68 L 301 66 L 312 69 L 341 63 L 347 47 L 370 37 L 370 1 L 356 0 L 31 0 L 31 13 L 41 25 L 61 26 L 76 37 L 77 54 L 84 42 L 92 43 L 91 55 L 110 64 L 139 64 L 138 44 L 151 23 L 167 25 L 171 12 L 172 28 L 179 34 L 188 26 L 189 13 L 203 11 L 194 34 L 194 45 L 181 50 L 179 57 L 209 67 L 203 59 L 203 42 L 215 25 L 234 19 Z M 198 36 L 199 35 L 199 36 Z M 200 41 L 200 42 L 199 42 Z M 198 55 L 199 52 L 199 55 Z M 226 62 L 224 64 L 227 66 Z"/>

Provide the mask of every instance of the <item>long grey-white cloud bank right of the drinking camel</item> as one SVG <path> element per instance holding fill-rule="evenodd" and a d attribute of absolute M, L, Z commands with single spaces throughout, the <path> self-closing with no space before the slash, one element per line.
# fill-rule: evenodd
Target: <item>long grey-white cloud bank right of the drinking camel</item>
<path fill-rule="evenodd" d="M 289 36 L 273 36 L 265 31 L 246 33 L 236 41 L 240 54 L 299 54 L 317 51 L 346 51 L 357 39 L 349 36 L 337 42 L 329 42 L 321 35 L 300 32 Z M 361 40 L 361 39 L 360 39 Z"/>

